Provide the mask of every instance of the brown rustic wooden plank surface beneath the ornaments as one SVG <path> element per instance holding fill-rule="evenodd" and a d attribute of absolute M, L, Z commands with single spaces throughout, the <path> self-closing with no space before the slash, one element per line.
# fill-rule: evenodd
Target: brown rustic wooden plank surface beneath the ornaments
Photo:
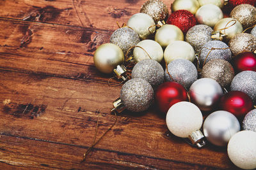
<path fill-rule="evenodd" d="M 164 1 L 170 10 L 172 1 Z M 0 1 L 0 169 L 236 169 L 226 148 L 201 150 L 167 131 L 156 107 L 114 122 L 121 87 L 93 66 L 116 21 L 142 0 Z M 30 17 L 28 17 L 30 16 Z M 117 82 L 115 82 L 117 83 Z"/>

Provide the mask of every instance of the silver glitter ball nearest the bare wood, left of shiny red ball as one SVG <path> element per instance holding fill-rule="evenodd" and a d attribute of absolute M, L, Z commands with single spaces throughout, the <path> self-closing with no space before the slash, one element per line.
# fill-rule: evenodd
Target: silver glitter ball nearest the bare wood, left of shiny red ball
<path fill-rule="evenodd" d="M 133 78 L 124 83 L 120 99 L 127 110 L 134 112 L 145 111 L 153 102 L 154 90 L 148 81 L 141 78 Z"/>

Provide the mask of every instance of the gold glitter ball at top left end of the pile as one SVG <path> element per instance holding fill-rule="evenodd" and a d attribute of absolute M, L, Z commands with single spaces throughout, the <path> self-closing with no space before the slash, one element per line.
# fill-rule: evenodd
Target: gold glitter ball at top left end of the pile
<path fill-rule="evenodd" d="M 168 8 L 160 0 L 146 1 L 141 6 L 140 13 L 147 13 L 147 15 L 153 18 L 156 24 L 159 21 L 164 23 L 169 15 Z"/>

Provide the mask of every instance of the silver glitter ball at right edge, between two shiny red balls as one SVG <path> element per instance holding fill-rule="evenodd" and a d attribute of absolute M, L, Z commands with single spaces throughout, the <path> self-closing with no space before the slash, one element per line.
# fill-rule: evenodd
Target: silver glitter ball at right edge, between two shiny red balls
<path fill-rule="evenodd" d="M 256 72 L 242 71 L 231 82 L 231 90 L 238 90 L 248 94 L 255 103 L 256 101 Z"/>

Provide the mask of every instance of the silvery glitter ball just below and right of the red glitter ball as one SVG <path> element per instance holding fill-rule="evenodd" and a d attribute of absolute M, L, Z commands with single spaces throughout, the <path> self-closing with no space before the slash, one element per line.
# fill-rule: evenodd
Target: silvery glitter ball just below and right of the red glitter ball
<path fill-rule="evenodd" d="M 200 53 L 202 46 L 211 41 L 211 34 L 211 27 L 202 24 L 195 25 L 187 32 L 186 41 L 193 46 L 196 53 Z"/>

